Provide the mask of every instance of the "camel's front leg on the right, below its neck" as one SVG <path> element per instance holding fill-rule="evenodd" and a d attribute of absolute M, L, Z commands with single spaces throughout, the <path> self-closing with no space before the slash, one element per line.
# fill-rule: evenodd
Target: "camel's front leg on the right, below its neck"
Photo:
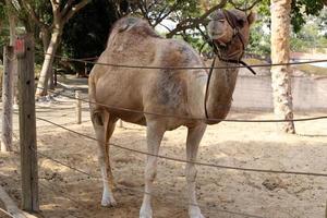
<path fill-rule="evenodd" d="M 192 161 L 196 161 L 196 155 L 199 142 L 206 130 L 206 124 L 199 124 L 195 128 L 189 128 L 187 140 L 186 140 L 186 168 L 185 175 L 187 182 L 187 196 L 189 196 L 189 216 L 190 218 L 204 218 L 201 214 L 201 209 L 197 206 L 196 192 L 195 192 L 195 179 L 196 168 Z"/>

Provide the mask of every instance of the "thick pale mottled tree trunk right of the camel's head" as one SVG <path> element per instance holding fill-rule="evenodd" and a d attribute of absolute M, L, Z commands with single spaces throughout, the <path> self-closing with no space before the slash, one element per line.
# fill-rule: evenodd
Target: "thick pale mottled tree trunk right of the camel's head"
<path fill-rule="evenodd" d="M 287 63 L 290 60 L 290 14 L 292 0 L 271 0 L 271 61 Z M 277 119 L 292 120 L 293 104 L 290 66 L 272 66 L 274 112 Z M 284 133 L 295 133 L 293 121 L 278 124 Z"/>

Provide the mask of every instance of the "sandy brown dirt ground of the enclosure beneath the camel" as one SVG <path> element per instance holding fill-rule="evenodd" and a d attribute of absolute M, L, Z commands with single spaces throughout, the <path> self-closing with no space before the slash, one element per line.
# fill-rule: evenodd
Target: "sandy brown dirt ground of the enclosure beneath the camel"
<path fill-rule="evenodd" d="M 83 123 L 75 124 L 74 101 L 57 97 L 56 102 L 38 104 L 37 117 L 94 136 L 87 105 Z M 295 113 L 296 118 L 322 113 Z M 234 119 L 274 119 L 269 112 L 231 111 Z M 17 150 L 17 118 L 15 150 Z M 129 123 L 117 128 L 112 143 L 146 150 L 145 129 Z M 274 123 L 222 122 L 208 126 L 198 161 L 244 168 L 327 173 L 327 120 L 298 122 L 296 135 L 276 133 Z M 186 129 L 167 132 L 160 155 L 185 158 Z M 99 177 L 96 142 L 37 121 L 38 150 Z M 39 155 L 39 217 L 122 217 L 138 216 L 144 186 L 145 157 L 117 147 L 110 149 L 118 206 L 100 206 L 101 182 Z M 327 198 L 327 178 L 243 172 L 197 167 L 197 196 L 207 218 L 323 218 Z M 0 184 L 20 204 L 19 153 L 0 155 Z M 153 210 L 155 218 L 187 217 L 184 165 L 159 160 Z M 234 214 L 233 214 L 234 213 Z M 246 215 L 238 215 L 243 213 Z M 0 215 L 1 217 L 1 215 Z"/>

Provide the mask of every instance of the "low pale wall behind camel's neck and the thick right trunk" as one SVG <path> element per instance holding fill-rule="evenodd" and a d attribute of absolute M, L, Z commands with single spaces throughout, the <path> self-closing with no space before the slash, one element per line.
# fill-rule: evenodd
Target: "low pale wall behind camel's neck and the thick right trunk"
<path fill-rule="evenodd" d="M 293 77 L 294 110 L 327 111 L 327 78 Z M 270 76 L 240 75 L 233 94 L 233 108 L 272 110 Z"/>

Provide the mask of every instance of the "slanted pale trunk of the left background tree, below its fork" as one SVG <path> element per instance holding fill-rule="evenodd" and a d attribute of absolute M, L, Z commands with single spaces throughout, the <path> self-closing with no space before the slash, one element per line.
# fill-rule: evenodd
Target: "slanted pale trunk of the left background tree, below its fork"
<path fill-rule="evenodd" d="M 61 32 L 61 29 L 55 29 L 51 34 L 51 39 L 46 50 L 45 61 L 37 84 L 36 97 L 46 96 L 48 94 L 48 81 L 52 73 L 52 64 L 60 43 Z"/>

